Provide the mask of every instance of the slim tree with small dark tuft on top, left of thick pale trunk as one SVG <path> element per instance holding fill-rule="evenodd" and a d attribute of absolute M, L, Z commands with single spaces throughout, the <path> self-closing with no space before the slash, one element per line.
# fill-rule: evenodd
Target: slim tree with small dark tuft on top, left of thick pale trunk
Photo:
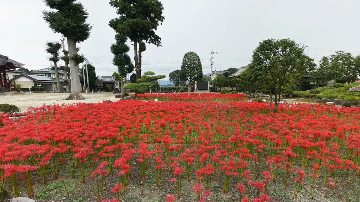
<path fill-rule="evenodd" d="M 48 41 L 46 42 L 45 50 L 48 52 L 51 56 L 49 57 L 49 60 L 54 63 L 55 68 L 55 79 L 56 79 L 56 86 L 58 88 L 58 92 L 62 93 L 64 92 L 64 88 L 60 84 L 59 81 L 59 72 L 58 72 L 58 65 L 57 62 L 59 61 L 59 50 L 61 49 L 61 43 L 55 42 L 55 41 Z M 66 75 L 64 75 L 66 76 Z"/>

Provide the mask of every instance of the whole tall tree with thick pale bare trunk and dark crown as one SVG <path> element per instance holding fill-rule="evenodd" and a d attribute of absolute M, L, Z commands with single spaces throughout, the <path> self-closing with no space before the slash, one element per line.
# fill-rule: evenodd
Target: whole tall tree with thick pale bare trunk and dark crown
<path fill-rule="evenodd" d="M 44 0 L 50 11 L 42 11 L 42 19 L 49 24 L 53 32 L 61 33 L 67 39 L 71 74 L 71 93 L 65 100 L 83 100 L 79 77 L 79 63 L 84 57 L 77 54 L 76 43 L 90 36 L 92 26 L 86 23 L 89 13 L 76 0 Z"/>

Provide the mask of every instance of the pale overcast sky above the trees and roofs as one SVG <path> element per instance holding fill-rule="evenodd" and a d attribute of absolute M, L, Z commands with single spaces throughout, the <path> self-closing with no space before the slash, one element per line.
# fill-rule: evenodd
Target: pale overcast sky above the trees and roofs
<path fill-rule="evenodd" d="M 108 0 L 81 0 L 93 24 L 80 53 L 95 66 L 97 75 L 112 75 L 114 42 L 109 20 L 116 11 Z M 360 54 L 359 0 L 161 0 L 164 23 L 156 33 L 162 47 L 147 45 L 143 52 L 142 73 L 168 74 L 180 69 L 188 51 L 197 52 L 203 73 L 239 68 L 249 64 L 252 51 L 267 38 L 292 38 L 309 46 L 306 51 L 318 62 L 336 50 Z M 48 67 L 45 41 L 60 41 L 40 18 L 48 9 L 42 0 L 1 0 L 0 54 L 26 64 L 28 69 Z M 130 43 L 129 43 L 130 44 Z M 134 58 L 134 50 L 129 52 Z M 63 62 L 60 61 L 60 64 Z"/>

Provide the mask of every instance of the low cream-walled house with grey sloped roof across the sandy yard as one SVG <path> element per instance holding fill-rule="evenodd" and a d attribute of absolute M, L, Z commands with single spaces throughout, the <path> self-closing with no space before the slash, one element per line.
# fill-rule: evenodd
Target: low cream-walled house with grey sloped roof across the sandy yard
<path fill-rule="evenodd" d="M 45 88 L 45 91 L 48 92 L 56 92 L 57 85 L 56 85 L 56 79 L 45 77 L 43 75 L 37 75 L 37 74 L 20 74 L 12 79 L 9 80 L 13 84 L 21 84 L 22 88 L 28 88 L 32 86 L 37 86 L 38 84 L 41 84 L 41 87 Z M 59 78 L 59 81 L 61 84 L 63 84 L 64 79 Z"/>

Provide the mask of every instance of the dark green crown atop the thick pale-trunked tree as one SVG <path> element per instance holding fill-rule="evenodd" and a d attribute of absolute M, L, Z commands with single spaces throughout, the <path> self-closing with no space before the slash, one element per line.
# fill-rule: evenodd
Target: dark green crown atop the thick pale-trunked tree
<path fill-rule="evenodd" d="M 86 23 L 89 13 L 76 0 L 44 0 L 53 10 L 43 10 L 41 18 L 49 24 L 55 33 L 72 38 L 76 42 L 85 41 L 90 36 L 92 26 Z"/>

